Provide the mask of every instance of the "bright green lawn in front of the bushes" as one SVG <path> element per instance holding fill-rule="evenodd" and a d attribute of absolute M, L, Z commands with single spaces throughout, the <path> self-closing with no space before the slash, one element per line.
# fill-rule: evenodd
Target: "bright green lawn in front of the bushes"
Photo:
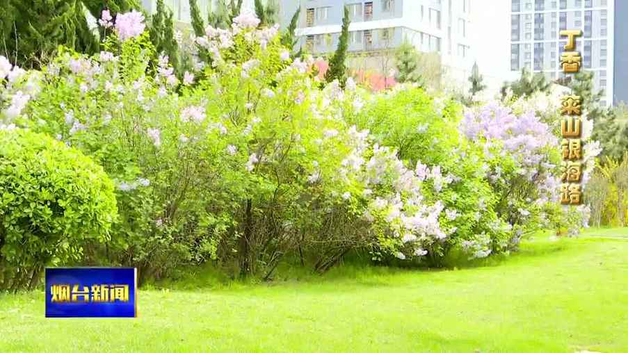
<path fill-rule="evenodd" d="M 42 292 L 0 295 L 0 352 L 628 352 L 628 229 L 538 236 L 499 265 L 334 271 L 142 290 L 136 319 L 45 319 Z"/>

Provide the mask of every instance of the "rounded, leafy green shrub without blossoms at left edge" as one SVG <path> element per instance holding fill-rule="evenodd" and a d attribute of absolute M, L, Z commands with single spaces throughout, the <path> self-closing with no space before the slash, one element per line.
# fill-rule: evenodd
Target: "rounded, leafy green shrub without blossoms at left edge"
<path fill-rule="evenodd" d="M 90 158 L 40 133 L 0 131 L 0 288 L 32 288 L 45 266 L 78 259 L 117 214 L 113 182 Z"/>

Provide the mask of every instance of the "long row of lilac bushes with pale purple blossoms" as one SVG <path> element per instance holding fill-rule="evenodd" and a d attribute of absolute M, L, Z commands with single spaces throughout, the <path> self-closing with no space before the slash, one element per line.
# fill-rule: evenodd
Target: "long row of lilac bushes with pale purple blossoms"
<path fill-rule="evenodd" d="M 344 71 L 324 85 L 277 26 L 232 15 L 195 38 L 201 60 L 182 77 L 138 13 L 118 15 L 93 56 L 65 49 L 30 72 L 0 58 L 0 128 L 63 141 L 115 183 L 120 216 L 104 244 L 82 243 L 83 263 L 145 279 L 214 261 L 268 279 L 281 261 L 439 265 L 509 252 L 558 219 L 580 228 L 586 210 L 555 202 L 557 106 L 463 108 L 412 85 L 373 95 Z"/>

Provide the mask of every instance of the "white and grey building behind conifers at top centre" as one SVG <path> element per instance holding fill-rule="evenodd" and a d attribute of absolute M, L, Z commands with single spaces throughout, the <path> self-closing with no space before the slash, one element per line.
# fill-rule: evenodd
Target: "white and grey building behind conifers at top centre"
<path fill-rule="evenodd" d="M 329 54 L 338 45 L 345 6 L 351 16 L 348 51 L 364 58 L 367 69 L 388 74 L 381 62 L 408 41 L 440 57 L 444 81 L 465 83 L 473 65 L 471 0 L 280 0 L 282 27 L 300 8 L 298 46 L 314 56 Z"/>

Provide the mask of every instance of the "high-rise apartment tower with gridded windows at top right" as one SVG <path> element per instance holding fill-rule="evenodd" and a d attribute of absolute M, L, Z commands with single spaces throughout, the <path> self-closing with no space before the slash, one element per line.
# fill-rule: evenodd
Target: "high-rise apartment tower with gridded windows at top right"
<path fill-rule="evenodd" d="M 618 18 L 613 0 L 512 0 L 510 69 L 519 72 L 526 67 L 551 81 L 564 77 L 559 58 L 566 38 L 559 32 L 580 28 L 583 35 L 577 39 L 577 51 L 582 56 L 581 69 L 595 73 L 595 88 L 605 94 L 602 104 L 612 104 L 615 83 L 620 83 L 613 82 L 613 77 L 618 77 L 614 65 Z M 624 41 L 623 46 L 626 44 Z M 626 90 L 621 92 L 626 99 Z"/>

